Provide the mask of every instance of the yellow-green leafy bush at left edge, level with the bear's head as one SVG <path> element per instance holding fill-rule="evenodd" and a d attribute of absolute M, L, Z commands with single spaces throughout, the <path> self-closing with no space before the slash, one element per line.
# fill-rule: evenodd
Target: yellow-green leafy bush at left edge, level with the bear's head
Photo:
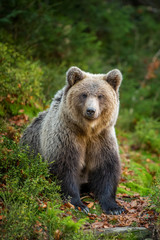
<path fill-rule="evenodd" d="M 0 115 L 28 112 L 27 107 L 32 108 L 31 116 L 35 115 L 42 109 L 38 100 L 43 100 L 38 62 L 27 60 L 15 47 L 3 43 L 0 43 L 0 61 Z"/>

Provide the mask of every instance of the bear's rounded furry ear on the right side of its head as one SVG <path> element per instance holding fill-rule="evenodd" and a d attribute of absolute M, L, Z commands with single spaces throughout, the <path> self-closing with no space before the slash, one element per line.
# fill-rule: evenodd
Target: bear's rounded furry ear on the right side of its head
<path fill-rule="evenodd" d="M 113 87 L 113 89 L 118 92 L 119 86 L 122 82 L 122 74 L 118 69 L 114 69 L 108 72 L 104 79 Z"/>

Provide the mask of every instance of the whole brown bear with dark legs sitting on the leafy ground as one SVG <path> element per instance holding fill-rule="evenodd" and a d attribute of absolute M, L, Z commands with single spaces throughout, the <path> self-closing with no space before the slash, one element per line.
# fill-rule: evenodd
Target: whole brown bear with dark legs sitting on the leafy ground
<path fill-rule="evenodd" d="M 87 184 L 107 214 L 121 214 L 115 201 L 120 158 L 114 125 L 119 111 L 122 74 L 91 74 L 77 67 L 67 72 L 63 89 L 50 108 L 25 130 L 22 145 L 48 161 L 51 174 L 61 184 L 64 198 L 88 212 L 80 200 Z"/>

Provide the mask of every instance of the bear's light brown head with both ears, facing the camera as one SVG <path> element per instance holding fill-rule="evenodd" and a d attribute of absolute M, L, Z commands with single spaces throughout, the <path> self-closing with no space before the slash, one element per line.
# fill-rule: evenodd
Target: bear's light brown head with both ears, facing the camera
<path fill-rule="evenodd" d="M 121 81 L 122 74 L 117 69 L 107 74 L 91 74 L 71 67 L 67 71 L 65 102 L 72 121 L 83 129 L 114 125 Z"/>

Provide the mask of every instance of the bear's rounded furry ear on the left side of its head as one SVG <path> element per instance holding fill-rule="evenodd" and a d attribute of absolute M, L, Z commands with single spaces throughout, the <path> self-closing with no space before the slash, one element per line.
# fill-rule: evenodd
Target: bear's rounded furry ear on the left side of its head
<path fill-rule="evenodd" d="M 78 67 L 69 68 L 66 75 L 69 86 L 73 86 L 75 83 L 84 78 L 84 73 Z"/>

